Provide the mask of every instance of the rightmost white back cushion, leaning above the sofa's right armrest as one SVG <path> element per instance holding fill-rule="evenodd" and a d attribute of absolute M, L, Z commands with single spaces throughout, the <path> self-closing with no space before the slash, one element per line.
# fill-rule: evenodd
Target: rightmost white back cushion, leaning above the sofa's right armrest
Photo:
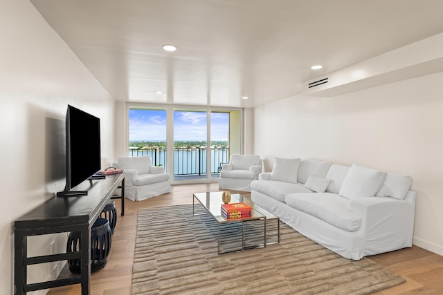
<path fill-rule="evenodd" d="M 412 183 L 413 179 L 409 175 L 388 173 L 388 175 L 386 175 L 386 180 L 383 182 L 375 196 L 404 200 Z"/>

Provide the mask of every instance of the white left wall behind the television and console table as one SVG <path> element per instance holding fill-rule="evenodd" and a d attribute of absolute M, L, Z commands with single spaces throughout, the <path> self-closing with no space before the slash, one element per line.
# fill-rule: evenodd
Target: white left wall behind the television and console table
<path fill-rule="evenodd" d="M 13 222 L 64 189 L 55 175 L 60 146 L 52 127 L 64 126 L 67 104 L 100 117 L 102 165 L 109 166 L 114 100 L 29 1 L 1 1 L 0 42 L 0 294 L 13 294 Z M 29 251 L 48 253 L 53 239 L 60 244 L 53 236 L 34 238 Z M 44 280 L 52 271 L 39 265 L 29 276 Z"/>

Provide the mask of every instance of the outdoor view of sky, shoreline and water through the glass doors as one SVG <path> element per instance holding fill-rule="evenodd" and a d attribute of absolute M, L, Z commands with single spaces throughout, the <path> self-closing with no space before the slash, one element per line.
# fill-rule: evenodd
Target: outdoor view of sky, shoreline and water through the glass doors
<path fill-rule="evenodd" d="M 177 175 L 217 175 L 221 164 L 229 157 L 229 117 L 228 112 L 208 112 L 174 109 L 173 116 L 174 158 L 172 160 Z M 166 149 L 167 111 L 161 108 L 129 108 L 129 156 L 150 155 L 156 166 L 168 169 Z M 210 142 L 207 143 L 210 130 Z M 206 167 L 210 153 L 210 171 Z"/>

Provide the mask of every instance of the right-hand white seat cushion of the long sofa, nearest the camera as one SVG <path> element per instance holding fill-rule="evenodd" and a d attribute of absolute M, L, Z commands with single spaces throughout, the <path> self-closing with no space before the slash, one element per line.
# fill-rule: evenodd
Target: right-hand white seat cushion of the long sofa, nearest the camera
<path fill-rule="evenodd" d="M 344 231 L 358 231 L 361 217 L 347 210 L 349 200 L 336 193 L 291 193 L 286 203 Z"/>

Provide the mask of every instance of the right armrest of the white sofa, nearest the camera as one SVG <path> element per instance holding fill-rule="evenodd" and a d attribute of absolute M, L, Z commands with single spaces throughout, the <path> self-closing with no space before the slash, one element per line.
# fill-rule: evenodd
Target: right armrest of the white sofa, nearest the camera
<path fill-rule="evenodd" d="M 405 200 L 364 197 L 349 201 L 348 209 L 361 217 L 366 240 L 393 241 L 407 237 L 412 245 L 415 219 L 415 192 Z"/>

